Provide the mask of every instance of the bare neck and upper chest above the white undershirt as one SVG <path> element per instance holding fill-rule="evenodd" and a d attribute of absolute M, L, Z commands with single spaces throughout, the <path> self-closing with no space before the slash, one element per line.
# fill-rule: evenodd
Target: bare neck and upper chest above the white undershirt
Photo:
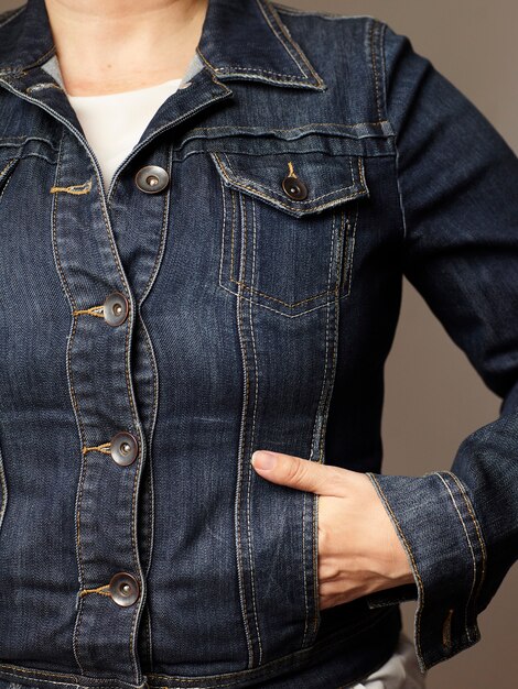
<path fill-rule="evenodd" d="M 45 0 L 65 88 L 115 94 L 183 76 L 208 0 Z"/>

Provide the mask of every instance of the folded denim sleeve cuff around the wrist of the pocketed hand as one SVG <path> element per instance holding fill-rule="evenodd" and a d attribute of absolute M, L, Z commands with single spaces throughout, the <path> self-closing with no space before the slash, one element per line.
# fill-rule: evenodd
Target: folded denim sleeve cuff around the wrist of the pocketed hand
<path fill-rule="evenodd" d="M 422 477 L 366 472 L 390 516 L 414 583 L 367 595 L 369 608 L 418 600 L 414 645 L 422 672 L 481 638 L 477 598 L 486 570 L 481 524 L 451 471 Z"/>

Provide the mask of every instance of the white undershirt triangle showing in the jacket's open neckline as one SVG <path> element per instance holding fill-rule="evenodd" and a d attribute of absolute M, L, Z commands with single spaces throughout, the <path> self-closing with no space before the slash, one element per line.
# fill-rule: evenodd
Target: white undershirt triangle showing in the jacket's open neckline
<path fill-rule="evenodd" d="M 138 143 L 163 101 L 176 91 L 181 80 L 170 79 L 157 86 L 104 96 L 67 94 L 99 161 L 106 190 L 117 167 Z"/>

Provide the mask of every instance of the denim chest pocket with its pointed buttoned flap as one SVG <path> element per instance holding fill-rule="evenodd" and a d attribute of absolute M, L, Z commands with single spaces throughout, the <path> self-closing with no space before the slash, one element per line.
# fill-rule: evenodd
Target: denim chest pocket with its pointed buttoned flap
<path fill-rule="evenodd" d="M 224 289 L 295 317 L 352 288 L 364 160 L 324 152 L 212 152 L 220 176 Z"/>

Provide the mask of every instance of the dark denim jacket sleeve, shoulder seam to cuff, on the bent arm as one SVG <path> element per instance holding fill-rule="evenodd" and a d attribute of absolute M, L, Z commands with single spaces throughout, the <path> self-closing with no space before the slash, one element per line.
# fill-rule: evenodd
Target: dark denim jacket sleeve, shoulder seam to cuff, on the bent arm
<path fill-rule="evenodd" d="M 498 418 L 462 441 L 450 469 L 367 472 L 414 578 L 367 602 L 418 600 L 414 644 L 425 672 L 479 641 L 477 615 L 518 558 L 518 158 L 408 37 L 377 26 L 404 275 L 501 398 Z"/>

